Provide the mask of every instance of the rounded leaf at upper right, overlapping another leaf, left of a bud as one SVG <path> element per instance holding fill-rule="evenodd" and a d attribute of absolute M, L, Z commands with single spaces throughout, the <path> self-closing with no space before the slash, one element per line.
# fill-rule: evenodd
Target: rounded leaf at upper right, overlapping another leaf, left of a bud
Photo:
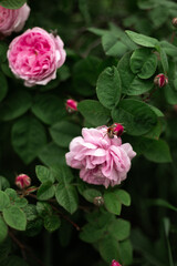
<path fill-rule="evenodd" d="M 140 79 L 149 79 L 156 71 L 157 55 L 152 49 L 136 49 L 131 57 L 131 70 Z"/>

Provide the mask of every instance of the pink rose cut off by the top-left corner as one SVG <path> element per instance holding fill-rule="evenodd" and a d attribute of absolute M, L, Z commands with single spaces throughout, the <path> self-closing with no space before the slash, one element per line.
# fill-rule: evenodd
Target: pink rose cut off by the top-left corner
<path fill-rule="evenodd" d="M 14 10 L 0 7 L 0 34 L 10 35 L 12 31 L 22 30 L 29 14 L 30 8 L 27 3 Z"/>

